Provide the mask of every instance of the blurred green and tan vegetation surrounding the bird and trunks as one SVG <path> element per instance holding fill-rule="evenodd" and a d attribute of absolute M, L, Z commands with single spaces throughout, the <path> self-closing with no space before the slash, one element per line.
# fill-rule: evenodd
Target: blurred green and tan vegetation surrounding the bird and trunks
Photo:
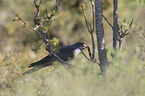
<path fill-rule="evenodd" d="M 113 0 L 102 0 L 104 15 L 112 23 Z M 91 47 L 79 0 L 60 0 L 60 11 L 54 17 L 50 37 L 61 45 L 77 41 Z M 43 0 L 40 15 L 50 12 L 55 0 Z M 91 6 L 85 0 L 84 8 L 89 24 L 92 23 Z M 107 76 L 98 75 L 99 67 L 79 55 L 73 64 L 75 70 L 54 65 L 34 74 L 23 76 L 27 66 L 48 53 L 43 45 L 38 53 L 33 45 L 41 38 L 21 21 L 12 22 L 15 15 L 33 26 L 36 9 L 33 0 L 0 0 L 0 96 L 145 96 L 145 0 L 119 0 L 119 24 L 135 19 L 129 35 L 123 40 L 123 51 L 118 51 Z M 105 40 L 109 61 L 112 60 L 112 29 L 104 21 Z M 96 44 L 97 45 L 97 44 Z"/>

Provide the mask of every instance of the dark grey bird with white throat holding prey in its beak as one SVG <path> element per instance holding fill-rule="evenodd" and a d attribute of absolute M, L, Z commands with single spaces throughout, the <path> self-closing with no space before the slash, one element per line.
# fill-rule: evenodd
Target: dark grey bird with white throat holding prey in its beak
<path fill-rule="evenodd" d="M 56 55 L 61 58 L 63 61 L 68 61 L 73 59 L 76 55 L 78 55 L 83 49 L 87 48 L 88 46 L 83 42 L 77 42 L 73 45 L 62 46 L 56 53 Z M 53 61 L 58 60 L 53 54 L 49 54 L 44 57 L 42 60 L 37 61 L 29 65 L 29 68 L 33 67 L 32 69 L 24 72 L 23 74 L 30 74 L 41 68 L 46 66 L 50 66 L 53 64 Z"/>

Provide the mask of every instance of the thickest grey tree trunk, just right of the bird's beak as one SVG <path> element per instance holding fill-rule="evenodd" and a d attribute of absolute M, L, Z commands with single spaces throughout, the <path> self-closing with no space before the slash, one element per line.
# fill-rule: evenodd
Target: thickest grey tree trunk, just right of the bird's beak
<path fill-rule="evenodd" d="M 105 49 L 102 0 L 95 0 L 95 17 L 100 69 L 102 73 L 105 73 L 107 67 L 109 66 L 109 62 Z"/>

